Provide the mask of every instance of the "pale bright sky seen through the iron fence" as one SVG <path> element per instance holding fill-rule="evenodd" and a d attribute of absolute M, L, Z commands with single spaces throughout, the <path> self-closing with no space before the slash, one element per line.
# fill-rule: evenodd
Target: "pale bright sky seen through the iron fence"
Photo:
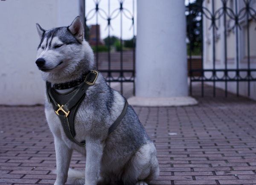
<path fill-rule="evenodd" d="M 87 25 L 96 24 L 96 14 L 95 8 L 96 3 L 99 3 L 99 15 L 98 24 L 100 25 L 100 35 L 101 39 L 108 37 L 108 15 L 111 15 L 111 28 L 110 35 L 119 37 L 121 36 L 121 20 L 120 11 L 120 1 L 123 2 L 123 8 L 125 8 L 122 14 L 122 39 L 128 40 L 133 38 L 133 35 L 137 35 L 137 0 L 86 0 L 85 4 L 85 16 L 87 17 Z M 158 0 L 159 3 L 161 0 Z M 195 0 L 184 0 L 185 5 L 192 3 Z M 108 8 L 108 3 L 110 3 L 110 9 Z M 110 13 L 109 13 L 110 12 Z M 117 15 L 118 14 L 118 15 Z M 132 16 L 134 15 L 134 27 L 132 26 Z M 116 17 L 117 16 L 117 17 Z"/>

